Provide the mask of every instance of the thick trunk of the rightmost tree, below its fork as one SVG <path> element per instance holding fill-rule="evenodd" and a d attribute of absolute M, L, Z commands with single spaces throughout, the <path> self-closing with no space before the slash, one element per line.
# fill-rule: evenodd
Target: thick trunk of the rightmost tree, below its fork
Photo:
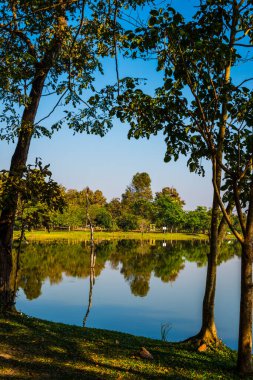
<path fill-rule="evenodd" d="M 246 374 L 252 368 L 252 241 L 242 243 L 241 302 L 237 368 Z"/>

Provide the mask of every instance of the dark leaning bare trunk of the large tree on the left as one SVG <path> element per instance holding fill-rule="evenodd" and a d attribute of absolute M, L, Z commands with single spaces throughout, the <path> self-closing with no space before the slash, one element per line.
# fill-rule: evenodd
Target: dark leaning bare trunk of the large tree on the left
<path fill-rule="evenodd" d="M 61 7 L 56 23 L 55 36 L 48 44 L 43 59 L 35 63 L 35 75 L 31 85 L 29 104 L 25 107 L 22 116 L 17 146 L 11 160 L 8 183 L 10 186 L 7 186 L 4 193 L 5 204 L 0 217 L 0 288 L 4 286 L 3 284 L 8 280 L 12 268 L 11 250 L 13 227 L 18 203 L 18 190 L 15 181 L 22 178 L 26 167 L 29 147 L 34 133 L 34 121 L 45 80 L 57 60 L 65 37 L 65 27 L 67 23 L 65 12 L 67 5 L 62 0 L 60 0 L 59 3 Z"/>

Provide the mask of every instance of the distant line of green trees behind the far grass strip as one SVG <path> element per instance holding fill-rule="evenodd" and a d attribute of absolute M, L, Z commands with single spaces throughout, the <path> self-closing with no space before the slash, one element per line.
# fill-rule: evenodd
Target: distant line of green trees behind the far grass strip
<path fill-rule="evenodd" d="M 65 202 L 63 210 L 43 208 L 41 203 L 23 205 L 22 223 L 25 219 L 29 227 L 29 215 L 34 216 L 37 208 L 36 223 L 33 217 L 32 227 L 38 228 L 45 225 L 45 216 L 48 228 L 78 229 L 90 223 L 95 228 L 111 231 L 208 233 L 210 228 L 210 209 L 198 206 L 193 211 L 185 211 L 185 203 L 173 187 L 165 187 L 153 195 L 147 173 L 136 173 L 121 199 L 113 198 L 110 202 L 101 190 L 92 191 L 88 187 L 81 191 L 64 188 L 61 191 Z M 19 219 L 16 227 L 19 227 Z"/>

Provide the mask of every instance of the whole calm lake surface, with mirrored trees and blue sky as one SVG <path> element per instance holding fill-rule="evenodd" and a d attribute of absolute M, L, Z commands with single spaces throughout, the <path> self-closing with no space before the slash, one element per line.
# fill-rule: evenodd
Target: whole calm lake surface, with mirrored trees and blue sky
<path fill-rule="evenodd" d="M 187 241 L 102 241 L 95 258 L 88 242 L 33 243 L 21 253 L 18 310 L 42 319 L 161 338 L 198 332 L 208 244 Z M 237 347 L 240 252 L 227 243 L 219 260 L 216 322 Z M 95 266 L 91 265 L 91 263 Z M 94 266 L 94 268 L 93 268 Z"/>

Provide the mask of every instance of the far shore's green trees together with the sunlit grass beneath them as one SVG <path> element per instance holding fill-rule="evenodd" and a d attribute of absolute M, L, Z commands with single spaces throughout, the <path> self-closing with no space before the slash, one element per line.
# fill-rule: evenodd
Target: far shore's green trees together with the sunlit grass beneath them
<path fill-rule="evenodd" d="M 28 184 L 32 188 L 35 186 L 31 173 Z M 51 186 L 55 192 L 55 184 Z M 50 200 L 51 191 L 50 187 L 47 195 Z M 140 234 L 145 234 L 147 238 L 159 236 L 176 240 L 207 238 L 210 233 L 211 209 L 198 206 L 195 210 L 185 210 L 185 202 L 173 187 L 164 187 L 154 195 L 148 173 L 136 173 L 121 198 L 113 198 L 109 202 L 101 190 L 93 191 L 89 187 L 78 191 L 59 186 L 57 191 L 56 204 L 53 205 L 47 204 L 48 199 L 38 201 L 40 193 L 29 202 L 20 197 L 15 230 L 21 231 L 22 237 L 25 230 L 43 229 L 51 231 L 50 235 L 46 235 L 48 239 L 58 237 L 58 231 L 61 231 L 59 236 L 69 239 L 72 231 L 79 230 L 83 232 L 75 232 L 75 238 L 79 235 L 86 239 L 85 231 L 91 228 L 98 238 L 104 236 L 101 231 L 106 231 L 106 237 L 138 238 Z M 221 217 L 220 213 L 219 219 Z M 236 217 L 233 223 L 238 224 Z M 38 234 L 43 235 L 36 232 L 27 236 L 33 238 Z"/>

